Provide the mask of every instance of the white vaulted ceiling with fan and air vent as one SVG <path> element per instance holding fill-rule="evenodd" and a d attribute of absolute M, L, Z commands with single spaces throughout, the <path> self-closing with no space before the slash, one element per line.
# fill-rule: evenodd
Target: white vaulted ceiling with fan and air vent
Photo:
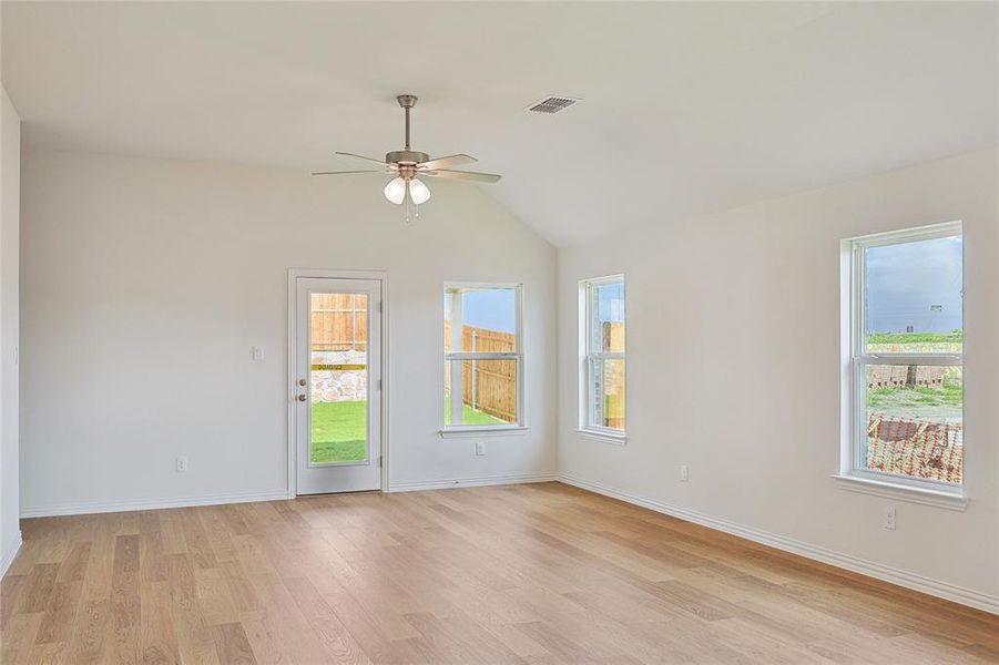
<path fill-rule="evenodd" d="M 29 145 L 303 173 L 398 149 L 411 92 L 415 147 L 565 246 L 993 145 L 996 11 L 6 1 L 2 79 Z"/>

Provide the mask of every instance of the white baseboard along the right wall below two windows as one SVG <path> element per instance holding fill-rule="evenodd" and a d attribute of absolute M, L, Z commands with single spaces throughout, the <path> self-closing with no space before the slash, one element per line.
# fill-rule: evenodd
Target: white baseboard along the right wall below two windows
<path fill-rule="evenodd" d="M 916 573 L 910 573 L 908 571 L 903 571 L 880 563 L 875 563 L 873 561 L 866 561 L 864 559 L 852 556 L 849 554 L 843 554 L 842 552 L 836 552 L 826 548 L 811 545 L 808 543 L 785 538 L 783 535 L 753 529 L 752 526 L 743 526 L 742 524 L 717 520 L 715 518 L 686 510 L 684 508 L 669 505 L 654 499 L 640 497 L 631 492 L 625 492 L 623 490 L 611 488 L 599 482 L 584 480 L 582 478 L 577 478 L 574 475 L 568 475 L 563 473 L 560 477 L 560 480 L 565 484 L 570 484 L 583 490 L 589 490 L 591 492 L 603 494 L 605 497 L 611 497 L 612 499 L 620 499 L 621 501 L 624 501 L 626 503 L 648 508 L 649 510 L 679 518 L 687 522 L 693 522 L 695 524 L 701 524 L 702 526 L 707 526 L 717 531 L 724 531 L 725 533 L 731 533 L 732 535 L 737 535 L 740 538 L 744 538 L 763 545 L 783 550 L 784 552 L 791 552 L 792 554 L 797 554 L 806 559 L 820 561 L 822 563 L 827 563 L 836 567 L 842 567 L 855 573 L 859 573 L 862 575 L 867 575 L 868 577 L 875 577 L 877 580 L 897 584 L 898 586 L 905 586 L 906 589 L 919 591 L 931 596 L 945 598 L 955 603 L 960 603 L 961 605 L 968 605 L 969 607 L 975 607 L 976 610 L 982 610 L 985 612 L 991 612 L 992 614 L 999 614 L 999 597 L 997 596 L 980 593 L 978 591 L 972 591 L 970 589 L 964 589 L 948 582 L 931 580 Z"/>

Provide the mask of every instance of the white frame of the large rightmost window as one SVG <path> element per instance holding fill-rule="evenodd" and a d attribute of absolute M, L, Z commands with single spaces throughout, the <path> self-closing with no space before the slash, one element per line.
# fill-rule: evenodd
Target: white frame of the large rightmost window
<path fill-rule="evenodd" d="M 868 493 L 900 490 L 904 493 L 918 493 L 924 497 L 937 497 L 941 500 L 965 499 L 965 483 L 913 478 L 884 471 L 873 471 L 864 464 L 867 444 L 867 367 L 885 365 L 920 365 L 934 367 L 964 368 L 964 346 L 958 354 L 893 354 L 869 352 L 866 348 L 867 328 L 867 254 L 873 247 L 900 245 L 938 238 L 960 236 L 964 238 L 964 225 L 960 221 L 946 222 L 916 228 L 906 228 L 886 233 L 871 234 L 843 241 L 842 254 L 844 273 L 847 276 L 844 288 L 844 417 L 846 431 L 843 436 L 839 480 L 856 481 L 866 485 Z M 961 273 L 964 274 L 964 249 L 961 252 Z M 964 278 L 962 278 L 964 282 Z M 964 330 L 964 304 L 961 307 L 961 329 Z M 964 412 L 964 401 L 961 411 Z M 961 442 L 965 446 L 965 442 Z M 965 460 L 967 460 L 967 448 Z M 847 487 L 846 489 L 855 489 Z"/>

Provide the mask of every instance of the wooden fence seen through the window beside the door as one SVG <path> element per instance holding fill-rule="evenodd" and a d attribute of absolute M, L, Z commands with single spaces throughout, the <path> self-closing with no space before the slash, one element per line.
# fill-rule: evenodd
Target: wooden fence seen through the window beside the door
<path fill-rule="evenodd" d="M 451 338 L 450 321 L 445 321 L 445 339 Z M 511 332 L 462 326 L 462 351 L 512 352 L 517 338 Z M 517 420 L 517 361 L 461 361 L 461 401 L 472 409 L 506 422 Z M 451 395 L 451 372 L 445 368 L 445 391 Z"/>

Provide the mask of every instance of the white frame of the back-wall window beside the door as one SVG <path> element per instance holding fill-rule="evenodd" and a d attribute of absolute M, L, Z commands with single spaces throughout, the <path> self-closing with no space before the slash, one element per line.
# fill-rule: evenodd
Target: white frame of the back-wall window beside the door
<path fill-rule="evenodd" d="M 516 360 L 517 361 L 517 422 L 510 422 L 504 424 L 445 424 L 444 423 L 444 407 L 445 407 L 445 378 L 444 375 L 440 375 L 440 389 L 438 390 L 439 395 L 439 407 L 437 409 L 438 417 L 440 418 L 440 428 L 438 429 L 438 433 L 444 439 L 450 438 L 462 438 L 462 437 L 480 437 L 480 436 L 489 436 L 489 437 L 498 437 L 498 436 L 516 436 L 523 434 L 528 431 L 527 418 L 524 413 L 524 341 L 523 341 L 523 284 L 519 282 L 445 282 L 444 290 L 447 293 L 448 290 L 453 289 L 462 289 L 462 288 L 510 288 L 513 289 L 513 300 L 514 300 L 514 336 L 516 336 L 516 349 L 509 354 L 496 354 L 496 352 L 481 352 L 481 354 L 472 354 L 472 352 L 460 352 L 460 351 L 445 351 L 445 332 L 444 332 L 444 316 L 441 316 L 441 325 L 440 325 L 440 362 L 438 367 L 446 367 L 446 362 L 448 360 Z M 444 299 L 441 298 L 441 307 L 444 307 Z M 444 314 L 441 309 L 441 315 Z M 451 324 L 453 326 L 453 319 L 451 319 Z"/>

